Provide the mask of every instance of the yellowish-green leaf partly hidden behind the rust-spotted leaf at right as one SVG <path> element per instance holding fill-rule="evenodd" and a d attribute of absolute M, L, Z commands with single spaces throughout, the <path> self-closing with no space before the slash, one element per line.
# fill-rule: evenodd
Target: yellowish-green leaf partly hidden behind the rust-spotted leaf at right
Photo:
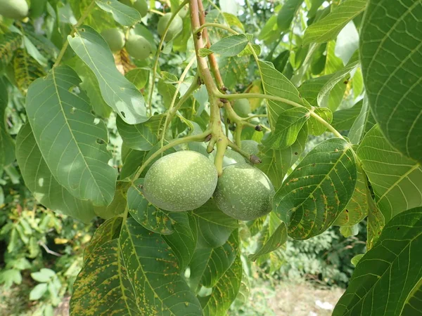
<path fill-rule="evenodd" d="M 357 182 L 352 199 L 350 199 L 346 208 L 340 213 L 333 225 L 353 226 L 360 223 L 368 215 L 368 195 L 371 195 L 371 192 L 366 183 L 366 175 L 362 170 L 362 166 L 357 166 Z"/>

